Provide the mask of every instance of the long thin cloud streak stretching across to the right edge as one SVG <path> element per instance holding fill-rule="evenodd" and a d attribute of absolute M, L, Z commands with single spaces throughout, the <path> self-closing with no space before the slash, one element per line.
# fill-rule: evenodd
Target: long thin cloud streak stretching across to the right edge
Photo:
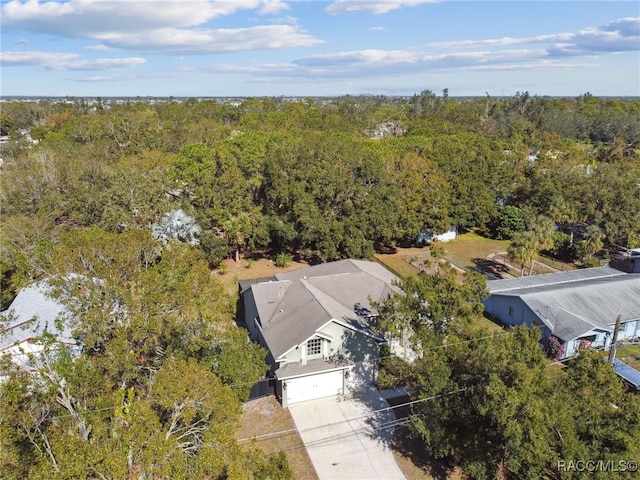
<path fill-rule="evenodd" d="M 578 58 L 593 57 L 594 52 L 639 49 L 636 24 L 636 19 L 622 19 L 610 22 L 605 27 L 588 28 L 577 33 L 432 43 L 405 50 L 331 52 L 279 64 L 214 64 L 191 70 L 190 75 L 217 73 L 249 75 L 260 81 L 324 81 L 363 77 L 401 78 L 453 71 L 530 72 L 594 68 L 601 61 L 586 63 L 577 61 Z"/>

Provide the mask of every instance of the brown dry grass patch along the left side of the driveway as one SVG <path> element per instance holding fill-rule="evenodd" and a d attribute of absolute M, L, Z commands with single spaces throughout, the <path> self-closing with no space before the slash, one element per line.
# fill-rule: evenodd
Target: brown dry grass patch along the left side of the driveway
<path fill-rule="evenodd" d="M 240 445 L 253 444 L 267 455 L 284 451 L 293 478 L 318 478 L 289 410 L 274 397 L 258 398 L 242 406 L 237 436 Z"/>

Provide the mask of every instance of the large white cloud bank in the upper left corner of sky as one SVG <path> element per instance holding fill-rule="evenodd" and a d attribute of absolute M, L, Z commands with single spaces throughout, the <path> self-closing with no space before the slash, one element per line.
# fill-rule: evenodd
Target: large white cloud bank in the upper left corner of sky
<path fill-rule="evenodd" d="M 266 15 L 288 8 L 283 0 L 13 0 L 2 5 L 1 13 L 3 29 L 9 32 L 100 40 L 110 47 L 146 52 L 213 53 L 320 43 L 290 26 L 202 27 L 240 10 Z"/>

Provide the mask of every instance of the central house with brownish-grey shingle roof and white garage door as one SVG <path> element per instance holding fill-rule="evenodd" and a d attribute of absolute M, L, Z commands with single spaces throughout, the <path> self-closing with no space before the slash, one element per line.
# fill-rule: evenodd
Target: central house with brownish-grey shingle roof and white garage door
<path fill-rule="evenodd" d="M 386 341 L 372 330 L 377 312 L 371 303 L 400 292 L 397 283 L 383 266 L 363 260 L 241 283 L 244 321 L 251 339 L 269 352 L 284 407 L 375 381 Z"/>

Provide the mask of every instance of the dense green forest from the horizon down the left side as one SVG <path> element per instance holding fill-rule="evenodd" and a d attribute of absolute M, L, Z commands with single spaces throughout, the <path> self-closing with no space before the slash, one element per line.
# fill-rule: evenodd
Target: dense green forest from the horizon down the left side
<path fill-rule="evenodd" d="M 266 365 L 233 322 L 235 299 L 210 275 L 226 258 L 367 258 L 451 225 L 513 239 L 522 263 L 532 243 L 581 257 L 640 246 L 637 99 L 456 99 L 445 90 L 237 104 L 13 101 L 2 103 L 0 130 L 3 309 L 20 288 L 51 279 L 84 342 L 79 359 L 51 357 L 37 384 L 3 363 L 3 478 L 287 478 L 282 457 L 248 455 L 234 437 Z M 550 222 L 569 233 L 545 239 Z M 525 353 L 535 343 L 527 335 Z M 423 393 L 467 388 L 476 373 L 493 378 L 469 362 L 505 355 L 453 349 L 434 380 L 440 390 Z M 591 367 L 578 367 L 571 381 L 586 388 L 580 375 Z M 495 405 L 502 386 L 483 388 Z M 621 387 L 610 388 L 622 402 Z M 442 443 L 449 420 L 416 428 L 427 445 L 446 446 L 435 454 L 467 453 L 452 445 L 469 439 Z M 488 458 L 470 465 L 478 478 L 497 457 Z M 517 461 L 526 469 L 536 458 Z"/>

